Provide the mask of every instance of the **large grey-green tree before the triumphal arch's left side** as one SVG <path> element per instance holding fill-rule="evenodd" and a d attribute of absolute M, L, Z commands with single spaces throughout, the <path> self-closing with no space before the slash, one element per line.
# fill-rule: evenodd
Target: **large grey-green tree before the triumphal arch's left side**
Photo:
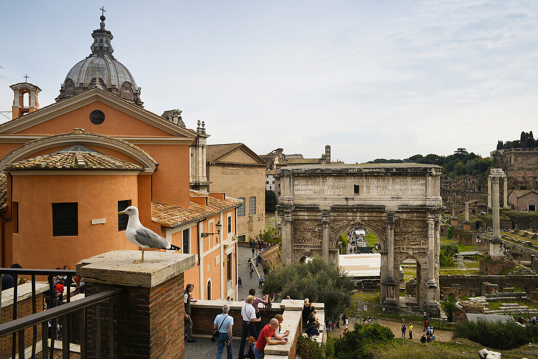
<path fill-rule="evenodd" d="M 350 305 L 351 291 L 355 288 L 351 277 L 344 271 L 316 256 L 308 263 L 288 264 L 277 272 L 269 272 L 263 293 L 322 302 L 325 304 L 325 318 L 333 318 Z"/>

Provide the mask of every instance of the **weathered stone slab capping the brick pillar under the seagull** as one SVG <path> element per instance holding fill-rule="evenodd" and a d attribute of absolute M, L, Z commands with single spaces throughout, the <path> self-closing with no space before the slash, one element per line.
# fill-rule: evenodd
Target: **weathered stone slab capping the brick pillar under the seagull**
<path fill-rule="evenodd" d="M 85 282 L 151 288 L 193 268 L 195 256 L 173 252 L 145 251 L 144 262 L 138 250 L 115 250 L 83 259 L 76 274 Z"/>

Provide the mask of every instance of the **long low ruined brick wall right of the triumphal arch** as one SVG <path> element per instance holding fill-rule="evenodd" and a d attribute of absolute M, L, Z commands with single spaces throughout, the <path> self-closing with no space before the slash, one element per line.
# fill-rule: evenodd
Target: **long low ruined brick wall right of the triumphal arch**
<path fill-rule="evenodd" d="M 474 290 L 477 295 L 482 292 L 482 282 L 487 281 L 497 284 L 501 288 L 514 287 L 521 288 L 522 291 L 530 293 L 538 290 L 538 275 L 513 274 L 508 276 L 439 276 L 441 288 L 452 287 L 459 284 L 462 290 Z"/>

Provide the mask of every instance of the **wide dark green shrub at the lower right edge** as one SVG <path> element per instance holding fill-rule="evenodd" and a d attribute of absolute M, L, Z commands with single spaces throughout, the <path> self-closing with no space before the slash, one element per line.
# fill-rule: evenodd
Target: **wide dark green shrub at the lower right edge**
<path fill-rule="evenodd" d="M 538 341 L 538 328 L 522 327 L 516 322 L 463 322 L 456 326 L 455 337 L 462 337 L 494 349 L 512 349 Z"/>

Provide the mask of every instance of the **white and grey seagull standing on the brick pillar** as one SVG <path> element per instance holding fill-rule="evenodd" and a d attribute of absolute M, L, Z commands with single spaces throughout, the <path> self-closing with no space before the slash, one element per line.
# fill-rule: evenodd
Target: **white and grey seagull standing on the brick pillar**
<path fill-rule="evenodd" d="M 181 248 L 170 244 L 166 238 L 162 238 L 151 229 L 142 226 L 140 220 L 138 219 L 138 208 L 129 206 L 121 212 L 118 212 L 118 215 L 120 214 L 129 215 L 129 222 L 127 222 L 125 237 L 127 237 L 127 240 L 132 244 L 142 247 L 142 258 L 140 261 L 136 259 L 134 263 L 144 262 L 144 249 L 146 248 L 168 249 L 173 251 L 181 250 Z"/>

